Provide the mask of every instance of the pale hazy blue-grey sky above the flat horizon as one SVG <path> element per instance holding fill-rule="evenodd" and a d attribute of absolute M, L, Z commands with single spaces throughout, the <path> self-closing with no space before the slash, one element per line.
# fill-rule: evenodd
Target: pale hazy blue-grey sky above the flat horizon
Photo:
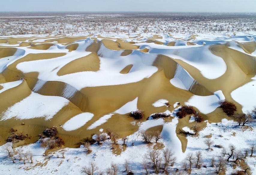
<path fill-rule="evenodd" d="M 256 12 L 256 0 L 0 0 L 0 11 Z"/>

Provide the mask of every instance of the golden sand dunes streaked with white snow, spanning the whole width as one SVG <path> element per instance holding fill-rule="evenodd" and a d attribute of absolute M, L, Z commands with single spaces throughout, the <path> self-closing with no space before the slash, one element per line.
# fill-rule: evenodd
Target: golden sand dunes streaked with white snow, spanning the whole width
<path fill-rule="evenodd" d="M 209 122 L 228 118 L 218 108 L 219 100 L 234 102 L 239 112 L 256 105 L 245 100 L 254 94 L 249 86 L 255 81 L 256 42 L 241 37 L 98 35 L 0 41 L 0 129 L 20 129 L 24 122 L 22 130 L 28 130 L 31 141 L 43 129 L 59 125 L 69 147 L 108 127 L 127 136 L 140 127 L 129 112 L 143 110 L 143 122 L 156 112 L 177 110 L 178 102 L 194 106 Z M 193 123 L 189 117 L 166 120 L 177 125 L 173 130 L 184 152 L 186 137 L 178 131 Z M 163 122 L 157 127 L 166 131 Z M 6 139 L 7 134 L 0 137 Z"/>

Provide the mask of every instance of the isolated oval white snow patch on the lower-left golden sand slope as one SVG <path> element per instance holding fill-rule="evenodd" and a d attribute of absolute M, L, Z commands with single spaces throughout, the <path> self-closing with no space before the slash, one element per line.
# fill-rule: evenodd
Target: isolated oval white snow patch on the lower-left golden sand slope
<path fill-rule="evenodd" d="M 84 126 L 89 120 L 91 120 L 93 116 L 94 114 L 90 112 L 78 114 L 69 119 L 66 123 L 64 123 L 62 128 L 66 131 L 79 129 L 80 127 Z"/>

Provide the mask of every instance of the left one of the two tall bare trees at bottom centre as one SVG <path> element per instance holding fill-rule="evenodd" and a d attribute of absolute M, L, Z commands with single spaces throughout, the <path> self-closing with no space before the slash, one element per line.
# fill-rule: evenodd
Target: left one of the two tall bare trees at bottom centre
<path fill-rule="evenodd" d="M 155 150 L 149 151 L 145 155 L 145 159 L 149 161 L 149 163 L 153 166 L 155 173 L 158 174 L 162 161 L 160 152 Z"/>

